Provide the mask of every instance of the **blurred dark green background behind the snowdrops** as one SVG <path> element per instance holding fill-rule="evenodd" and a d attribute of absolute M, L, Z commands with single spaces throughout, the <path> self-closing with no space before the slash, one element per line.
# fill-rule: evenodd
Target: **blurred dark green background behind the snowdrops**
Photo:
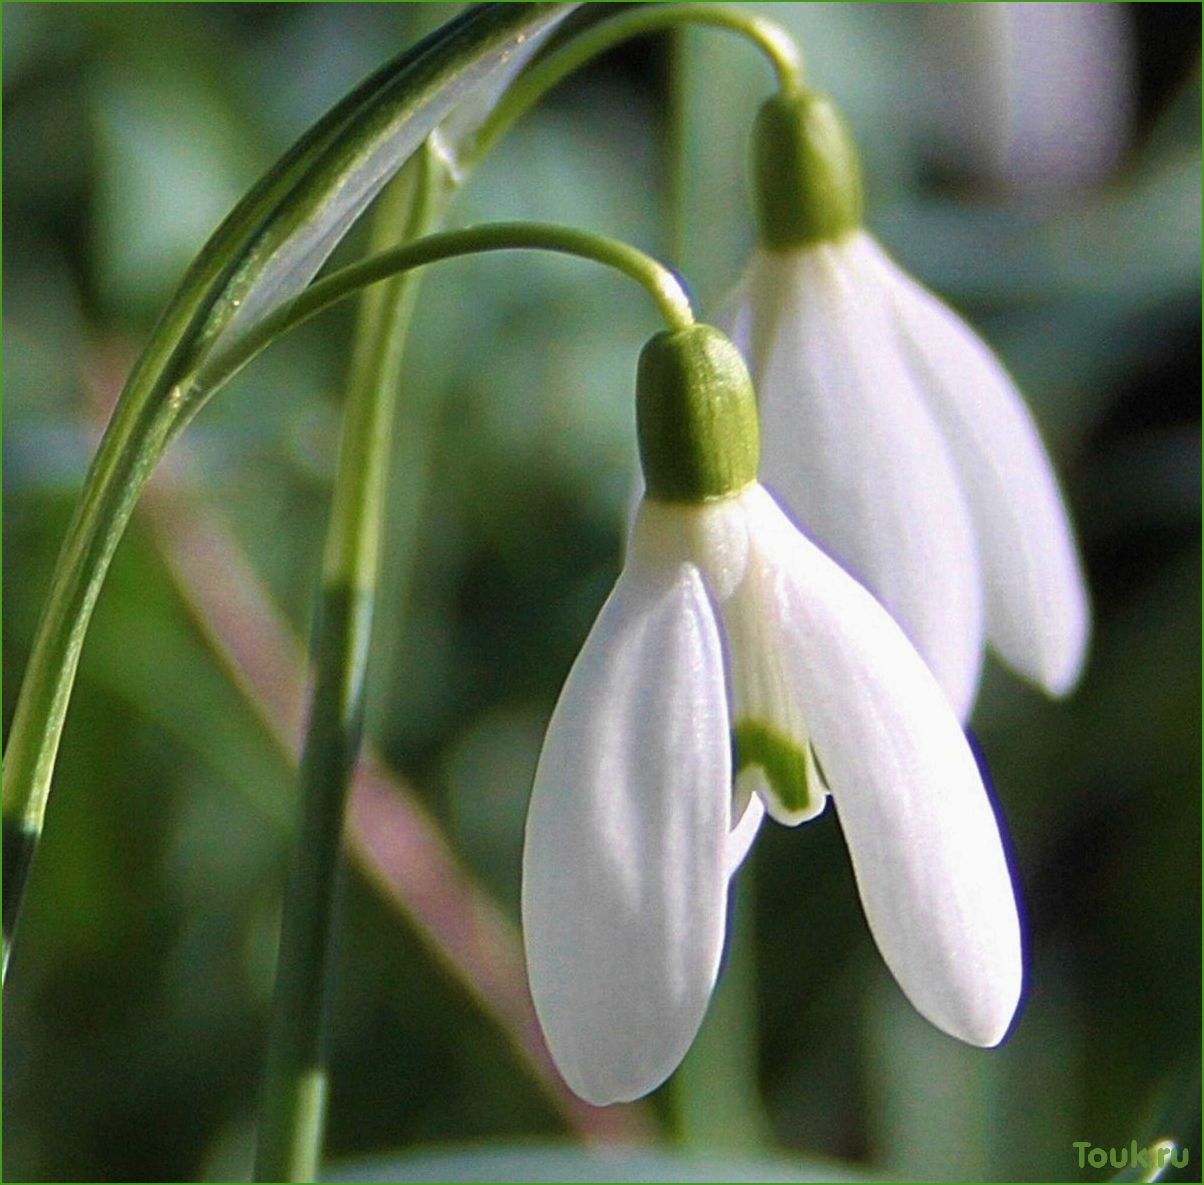
<path fill-rule="evenodd" d="M 1027 1001 L 1005 1047 L 968 1049 L 913 1014 L 832 812 L 767 826 L 712 1015 L 622 1171 L 672 1179 L 680 1163 L 656 1157 L 675 1151 L 721 1157 L 732 1178 L 743 1162 L 750 1179 L 1091 1180 L 1108 1174 L 1080 1169 L 1073 1142 L 1171 1136 L 1198 1179 L 1199 6 L 766 7 L 854 125 L 873 229 L 1028 395 L 1080 530 L 1096 638 L 1064 703 L 988 665 L 973 720 L 1027 915 Z M 190 257 L 295 136 L 453 11 L 4 5 L 6 727 L 98 406 Z M 453 220 L 628 238 L 714 309 L 751 243 L 745 140 L 769 86 L 722 34 L 625 47 L 518 128 Z M 465 261 L 423 288 L 368 730 L 515 926 L 526 795 L 616 572 L 635 359 L 656 328 L 624 282 L 565 260 Z M 341 309 L 273 347 L 158 485 L 160 507 L 232 532 L 299 637 L 349 329 Z M 135 520 L 84 649 L 5 998 L 10 1180 L 249 1167 L 293 776 L 169 562 L 172 521 Z M 220 560 L 193 579 L 217 603 L 246 583 Z M 474 992 L 359 873 L 346 910 L 334 1159 L 576 1138 Z M 582 1172 L 547 1155 L 520 1172 Z M 500 1172 L 380 1172 L 423 1163 Z"/>

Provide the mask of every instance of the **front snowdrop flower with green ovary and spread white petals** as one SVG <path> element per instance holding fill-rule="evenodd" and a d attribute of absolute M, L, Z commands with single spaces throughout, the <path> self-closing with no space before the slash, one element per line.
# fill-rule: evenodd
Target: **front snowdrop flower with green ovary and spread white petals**
<path fill-rule="evenodd" d="M 763 810 L 836 803 L 866 916 L 915 1007 L 1001 1040 L 1020 927 L 986 791 L 878 602 L 757 483 L 755 400 L 718 330 L 641 355 L 645 495 L 556 704 L 523 857 L 531 991 L 568 1085 L 660 1085 L 702 1021 L 728 878 Z M 734 791 L 733 791 L 734 780 Z"/>

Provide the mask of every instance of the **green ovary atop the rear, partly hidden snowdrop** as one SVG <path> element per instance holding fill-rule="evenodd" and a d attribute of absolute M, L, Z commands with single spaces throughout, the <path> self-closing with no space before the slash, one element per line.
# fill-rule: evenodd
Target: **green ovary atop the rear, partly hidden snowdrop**
<path fill-rule="evenodd" d="M 752 183 L 762 246 L 791 250 L 861 225 L 861 167 L 832 101 L 814 90 L 767 100 L 752 126 Z"/>

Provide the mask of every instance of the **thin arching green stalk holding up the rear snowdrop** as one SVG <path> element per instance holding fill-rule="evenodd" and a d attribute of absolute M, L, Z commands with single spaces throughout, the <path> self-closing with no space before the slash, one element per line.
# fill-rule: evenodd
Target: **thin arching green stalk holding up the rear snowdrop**
<path fill-rule="evenodd" d="M 638 5 L 580 34 L 527 70 L 507 90 L 477 134 L 470 167 L 549 90 L 586 61 L 632 37 L 681 24 L 709 25 L 744 37 L 769 59 L 781 92 L 793 94 L 802 87 L 803 57 L 798 42 L 773 20 L 744 8 L 716 4 Z"/>

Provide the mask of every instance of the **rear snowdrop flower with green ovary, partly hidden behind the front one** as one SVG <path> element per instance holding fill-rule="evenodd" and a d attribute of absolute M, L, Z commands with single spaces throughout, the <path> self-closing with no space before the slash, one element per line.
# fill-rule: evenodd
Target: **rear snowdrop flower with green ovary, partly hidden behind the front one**
<path fill-rule="evenodd" d="M 726 317 L 765 481 L 903 626 L 962 719 L 985 639 L 1052 695 L 1088 607 L 1066 506 L 991 350 L 861 229 L 851 141 L 811 92 L 757 117 L 760 246 Z"/>

